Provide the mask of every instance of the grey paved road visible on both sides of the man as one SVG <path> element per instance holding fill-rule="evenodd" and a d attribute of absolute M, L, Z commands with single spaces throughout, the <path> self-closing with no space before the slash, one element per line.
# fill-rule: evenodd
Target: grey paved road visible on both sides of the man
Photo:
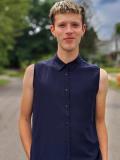
<path fill-rule="evenodd" d="M 12 79 L 0 87 L 0 160 L 25 160 L 18 134 L 18 115 L 22 81 Z M 120 160 L 120 92 L 109 89 L 106 122 L 109 160 Z"/>

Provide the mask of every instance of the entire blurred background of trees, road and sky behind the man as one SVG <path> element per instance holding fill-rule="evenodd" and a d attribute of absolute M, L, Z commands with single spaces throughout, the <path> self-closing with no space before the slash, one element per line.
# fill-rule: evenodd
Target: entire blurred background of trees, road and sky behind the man
<path fill-rule="evenodd" d="M 18 133 L 25 68 L 57 49 L 48 18 L 54 0 L 0 0 L 0 160 L 25 160 Z M 120 0 L 76 0 L 87 32 L 80 54 L 108 72 L 106 124 L 109 160 L 120 160 Z"/>

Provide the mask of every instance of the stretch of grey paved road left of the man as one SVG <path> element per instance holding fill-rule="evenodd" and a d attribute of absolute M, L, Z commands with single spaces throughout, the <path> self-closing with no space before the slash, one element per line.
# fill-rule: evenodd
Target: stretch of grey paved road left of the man
<path fill-rule="evenodd" d="M 0 160 L 25 160 L 18 134 L 22 81 L 0 87 Z"/>

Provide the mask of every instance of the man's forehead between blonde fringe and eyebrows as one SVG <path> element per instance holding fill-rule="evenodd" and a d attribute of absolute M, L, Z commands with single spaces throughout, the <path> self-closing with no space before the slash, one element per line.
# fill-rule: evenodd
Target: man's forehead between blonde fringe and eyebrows
<path fill-rule="evenodd" d="M 76 13 L 57 13 L 54 16 L 55 23 L 60 22 L 81 22 L 82 23 L 82 16 Z"/>

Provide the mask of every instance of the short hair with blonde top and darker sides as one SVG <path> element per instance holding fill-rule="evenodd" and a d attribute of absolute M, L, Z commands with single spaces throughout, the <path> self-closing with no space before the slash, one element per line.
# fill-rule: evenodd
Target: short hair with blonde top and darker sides
<path fill-rule="evenodd" d="M 85 23 L 85 10 L 78 3 L 72 0 L 61 0 L 55 2 L 55 4 L 50 9 L 49 17 L 54 24 L 54 16 L 58 13 L 76 13 L 82 16 L 82 23 Z"/>

